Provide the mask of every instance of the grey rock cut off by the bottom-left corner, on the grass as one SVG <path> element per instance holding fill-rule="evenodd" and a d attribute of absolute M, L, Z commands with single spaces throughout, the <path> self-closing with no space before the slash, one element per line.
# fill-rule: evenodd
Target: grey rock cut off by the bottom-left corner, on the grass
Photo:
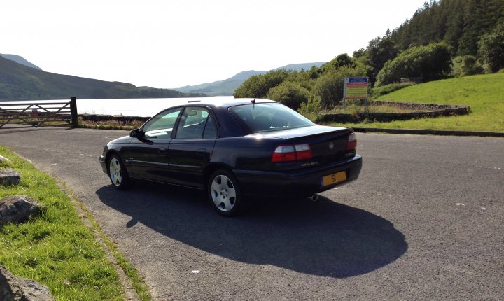
<path fill-rule="evenodd" d="M 0 265 L 0 300 L 53 301 L 49 288 L 30 279 L 14 276 Z"/>

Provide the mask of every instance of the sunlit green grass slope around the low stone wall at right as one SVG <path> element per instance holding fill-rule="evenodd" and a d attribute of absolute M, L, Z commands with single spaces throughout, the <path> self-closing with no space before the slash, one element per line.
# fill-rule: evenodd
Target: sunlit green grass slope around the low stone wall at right
<path fill-rule="evenodd" d="M 387 127 L 420 130 L 504 132 L 504 73 L 437 80 L 386 94 L 379 100 L 423 104 L 469 105 L 465 116 L 421 118 L 390 123 L 333 124 L 345 127 Z"/>

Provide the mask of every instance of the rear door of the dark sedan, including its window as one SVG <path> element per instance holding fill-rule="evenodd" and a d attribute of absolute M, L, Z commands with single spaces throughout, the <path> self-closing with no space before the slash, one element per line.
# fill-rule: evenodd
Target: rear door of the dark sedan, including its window
<path fill-rule="evenodd" d="M 173 183 L 204 187 L 203 170 L 210 162 L 217 135 L 216 119 L 208 108 L 188 106 L 184 109 L 175 137 L 169 144 Z"/>

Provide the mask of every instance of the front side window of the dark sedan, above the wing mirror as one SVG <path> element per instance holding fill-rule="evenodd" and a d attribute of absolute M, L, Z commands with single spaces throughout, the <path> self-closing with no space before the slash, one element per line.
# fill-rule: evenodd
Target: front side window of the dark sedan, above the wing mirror
<path fill-rule="evenodd" d="M 144 125 L 145 137 L 147 139 L 169 139 L 172 137 L 174 125 L 182 108 L 163 111 L 154 116 Z"/>

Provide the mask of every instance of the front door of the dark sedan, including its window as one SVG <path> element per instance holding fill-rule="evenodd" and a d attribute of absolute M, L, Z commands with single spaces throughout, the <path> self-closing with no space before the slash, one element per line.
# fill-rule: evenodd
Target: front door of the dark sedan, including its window
<path fill-rule="evenodd" d="M 127 159 L 135 178 L 169 181 L 168 147 L 182 109 L 168 109 L 154 116 L 141 128 L 141 137 L 131 141 Z"/>

